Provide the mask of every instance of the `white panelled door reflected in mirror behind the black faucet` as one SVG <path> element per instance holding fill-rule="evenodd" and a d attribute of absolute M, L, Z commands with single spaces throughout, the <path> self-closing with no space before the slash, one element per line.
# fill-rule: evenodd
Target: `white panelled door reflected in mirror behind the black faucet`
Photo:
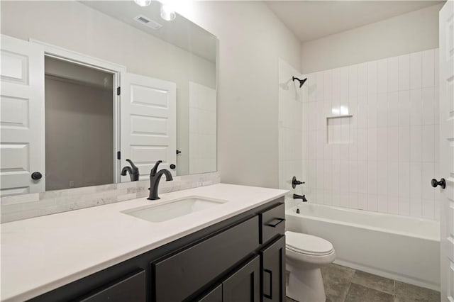
<path fill-rule="evenodd" d="M 121 167 L 130 159 L 139 168 L 140 180 L 148 179 L 155 162 L 162 160 L 160 169 L 176 176 L 170 164 L 177 164 L 177 85 L 128 73 L 122 89 Z"/>

